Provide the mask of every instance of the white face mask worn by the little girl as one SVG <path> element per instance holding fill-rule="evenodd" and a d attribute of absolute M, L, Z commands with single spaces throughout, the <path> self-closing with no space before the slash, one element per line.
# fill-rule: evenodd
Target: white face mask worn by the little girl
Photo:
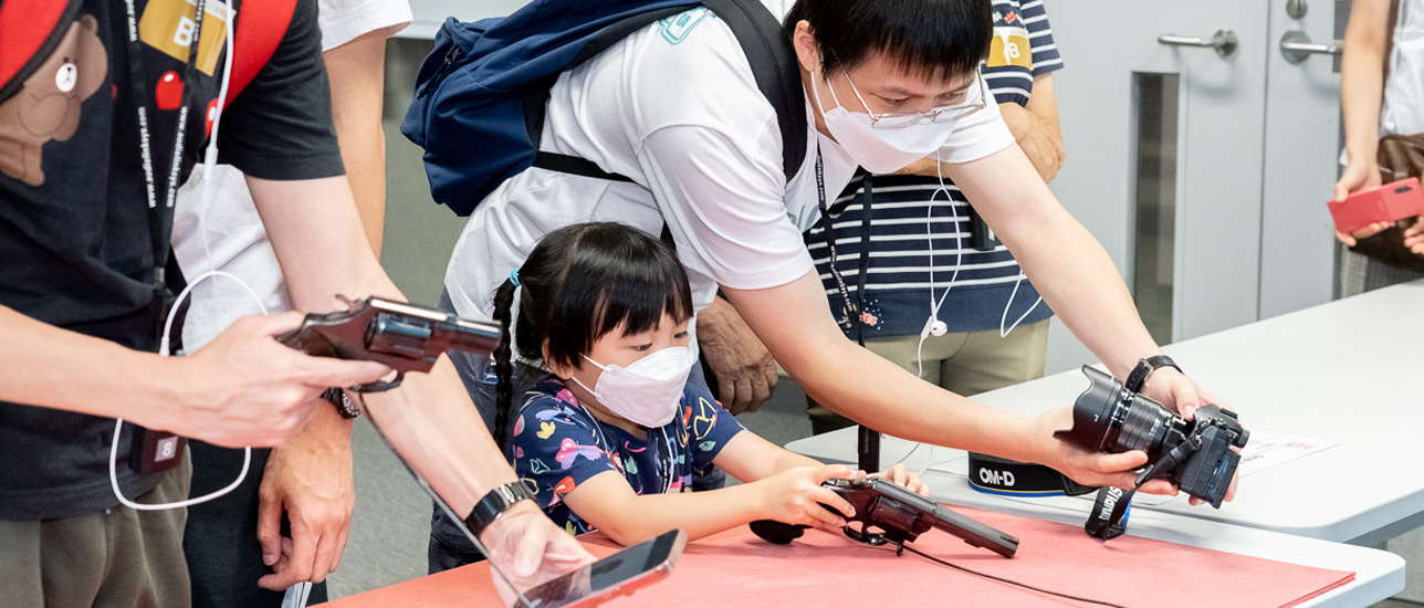
<path fill-rule="evenodd" d="M 584 359 L 588 359 L 585 355 Z M 590 363 L 604 370 L 590 389 L 577 377 L 574 382 L 594 393 L 594 399 L 618 417 L 649 429 L 662 427 L 678 416 L 682 390 L 692 373 L 696 355 L 686 346 L 671 346 L 632 362 L 628 367 Z"/>

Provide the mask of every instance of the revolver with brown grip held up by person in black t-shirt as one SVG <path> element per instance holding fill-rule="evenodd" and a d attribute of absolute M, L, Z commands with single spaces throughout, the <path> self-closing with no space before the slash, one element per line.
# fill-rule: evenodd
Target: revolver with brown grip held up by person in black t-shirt
<path fill-rule="evenodd" d="M 394 389 L 406 372 L 430 372 L 447 349 L 487 355 L 500 346 L 500 329 L 493 323 L 375 296 L 337 298 L 347 310 L 306 315 L 300 327 L 276 340 L 310 356 L 370 360 L 396 370 L 392 380 L 353 387 L 357 393 Z"/>

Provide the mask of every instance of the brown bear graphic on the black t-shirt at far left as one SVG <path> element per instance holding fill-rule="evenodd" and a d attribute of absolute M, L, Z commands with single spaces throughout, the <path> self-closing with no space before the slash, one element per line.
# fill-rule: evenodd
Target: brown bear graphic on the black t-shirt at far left
<path fill-rule="evenodd" d="M 85 14 L 70 24 L 24 88 L 0 104 L 0 172 L 33 187 L 44 184 L 44 144 L 74 137 L 81 104 L 107 75 L 108 51 L 98 38 L 98 21 Z"/>

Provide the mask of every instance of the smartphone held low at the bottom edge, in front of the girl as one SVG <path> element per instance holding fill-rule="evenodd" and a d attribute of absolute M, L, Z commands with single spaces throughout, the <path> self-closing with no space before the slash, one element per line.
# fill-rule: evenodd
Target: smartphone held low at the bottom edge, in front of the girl
<path fill-rule="evenodd" d="M 672 574 L 688 544 L 682 530 L 665 533 L 524 592 L 515 608 L 587 608 L 648 587 Z"/>

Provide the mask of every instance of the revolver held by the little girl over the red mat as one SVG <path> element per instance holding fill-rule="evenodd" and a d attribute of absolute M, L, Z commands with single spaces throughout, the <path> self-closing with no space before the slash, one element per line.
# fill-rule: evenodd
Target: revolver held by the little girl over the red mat
<path fill-rule="evenodd" d="M 930 498 L 896 486 L 879 477 L 863 478 L 833 478 L 822 484 L 846 498 L 856 510 L 860 530 L 846 525 L 844 533 L 852 540 L 881 545 L 891 543 L 904 551 L 906 543 L 913 543 L 920 534 L 930 528 L 940 528 L 964 543 L 987 548 L 1004 557 L 1014 557 L 1018 552 L 1018 538 L 1004 534 L 993 527 L 984 525 L 970 517 L 960 515 Z M 840 511 L 826 507 L 827 511 L 844 517 Z M 785 524 L 772 520 L 753 521 L 752 531 L 769 543 L 787 544 L 802 535 L 806 525 Z M 870 528 L 879 528 L 871 533 Z"/>

